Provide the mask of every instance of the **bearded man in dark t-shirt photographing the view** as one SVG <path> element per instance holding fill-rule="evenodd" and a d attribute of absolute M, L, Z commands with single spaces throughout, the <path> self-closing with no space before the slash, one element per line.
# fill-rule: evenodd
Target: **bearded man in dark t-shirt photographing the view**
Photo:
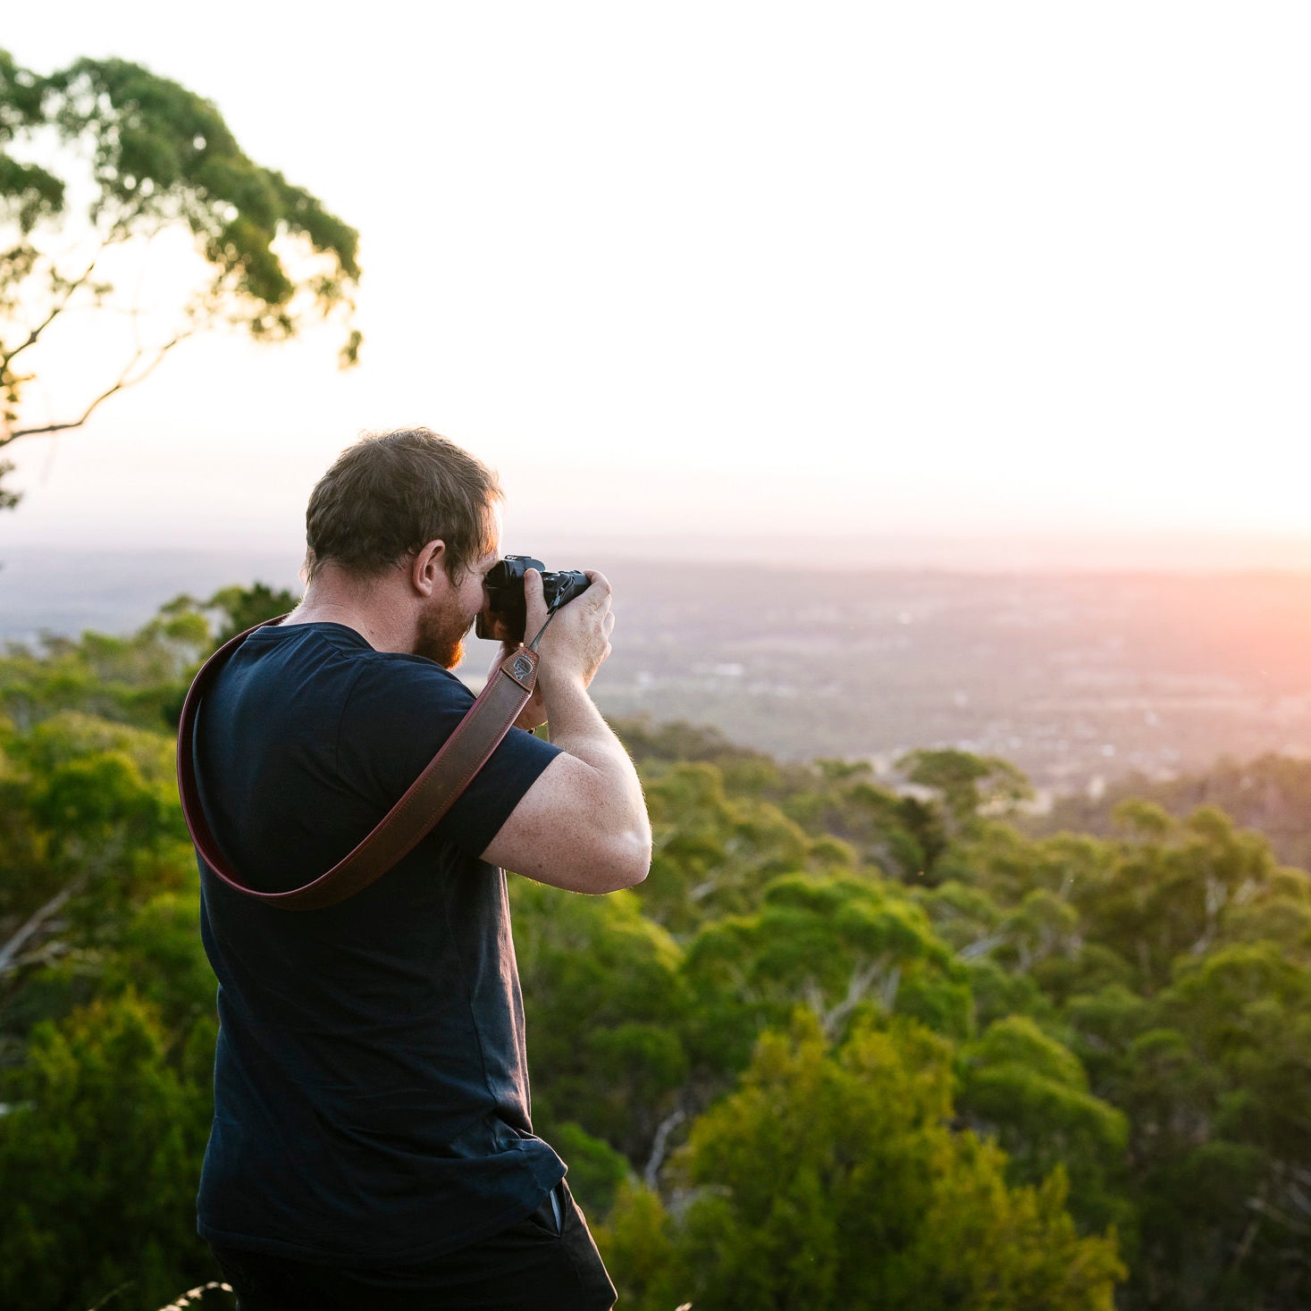
<path fill-rule="evenodd" d="M 201 801 L 248 885 L 332 867 L 468 711 L 450 669 L 499 556 L 499 501 L 425 429 L 363 439 L 315 488 L 304 598 L 245 640 L 197 720 Z M 519 726 L 371 886 L 287 911 L 201 861 L 220 1028 L 199 1231 L 243 1311 L 614 1302 L 530 1124 L 499 868 L 587 893 L 646 876 L 641 785 L 587 695 L 614 627 L 610 585 L 589 578 L 543 635 Z M 526 598 L 532 636 L 535 572 Z M 547 721 L 549 743 L 523 732 Z"/>

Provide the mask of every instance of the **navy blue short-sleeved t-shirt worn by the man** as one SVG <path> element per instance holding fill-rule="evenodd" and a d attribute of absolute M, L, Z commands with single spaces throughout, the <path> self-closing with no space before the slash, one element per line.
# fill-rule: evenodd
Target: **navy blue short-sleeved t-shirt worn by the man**
<path fill-rule="evenodd" d="M 473 696 L 340 624 L 261 628 L 201 707 L 198 787 L 261 890 L 342 859 Z M 219 979 L 210 1242 L 330 1264 L 418 1262 L 534 1211 L 565 1172 L 528 1118 L 505 873 L 480 860 L 557 754 L 511 729 L 446 817 L 362 893 L 288 911 L 201 861 Z"/>

